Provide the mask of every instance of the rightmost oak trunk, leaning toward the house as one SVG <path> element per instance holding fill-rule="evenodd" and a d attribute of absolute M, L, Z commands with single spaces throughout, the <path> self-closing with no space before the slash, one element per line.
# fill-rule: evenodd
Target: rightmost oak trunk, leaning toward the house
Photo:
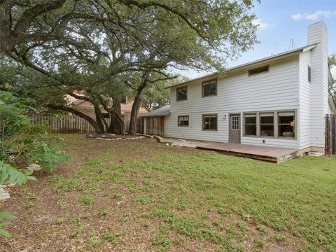
<path fill-rule="evenodd" d="M 132 111 L 131 111 L 130 130 L 128 132 L 128 134 L 130 134 L 131 136 L 134 136 L 135 134 L 137 134 L 138 113 L 139 113 L 139 109 L 141 106 L 142 97 L 144 96 L 145 88 L 148 85 L 146 76 L 147 74 L 145 75 L 143 82 L 137 89 L 137 95 L 134 97 L 134 102 L 133 102 Z"/>

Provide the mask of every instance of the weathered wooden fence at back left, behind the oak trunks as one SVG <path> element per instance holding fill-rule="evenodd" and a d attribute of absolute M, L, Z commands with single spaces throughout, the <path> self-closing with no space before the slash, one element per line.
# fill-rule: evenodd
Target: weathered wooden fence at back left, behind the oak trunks
<path fill-rule="evenodd" d="M 110 125 L 110 119 L 105 119 Z M 95 133 L 94 127 L 79 116 L 62 116 L 48 113 L 36 113 L 31 116 L 34 125 L 49 125 L 52 133 L 90 134 Z"/>

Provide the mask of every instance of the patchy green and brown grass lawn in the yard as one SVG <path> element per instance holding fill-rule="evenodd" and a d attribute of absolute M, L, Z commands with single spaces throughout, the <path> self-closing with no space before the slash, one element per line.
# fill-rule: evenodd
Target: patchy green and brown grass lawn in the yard
<path fill-rule="evenodd" d="M 71 160 L 1 202 L 0 251 L 336 251 L 336 158 L 63 137 Z"/>

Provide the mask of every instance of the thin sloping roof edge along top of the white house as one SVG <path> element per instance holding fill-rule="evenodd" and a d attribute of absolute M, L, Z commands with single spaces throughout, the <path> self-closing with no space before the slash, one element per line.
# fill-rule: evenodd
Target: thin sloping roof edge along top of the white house
<path fill-rule="evenodd" d="M 262 62 L 267 62 L 267 61 L 270 61 L 270 60 L 273 60 L 273 59 L 278 59 L 279 57 L 288 57 L 288 56 L 290 56 L 290 55 L 294 55 L 294 54 L 297 54 L 297 53 L 299 53 L 299 52 L 306 52 L 307 50 L 311 50 L 311 49 L 313 49 L 313 48 L 315 48 L 315 47 L 316 47 L 316 43 L 314 43 L 314 44 L 312 44 L 312 45 L 302 46 L 301 48 L 297 48 L 297 49 L 294 49 L 294 50 L 289 50 L 289 51 L 287 51 L 287 52 L 281 52 L 281 53 L 278 53 L 278 54 L 276 54 L 276 55 L 271 55 L 271 56 L 269 56 L 269 57 L 265 57 L 265 58 L 262 58 L 262 59 L 257 59 L 257 60 L 255 60 L 255 61 L 253 61 L 253 62 L 248 62 L 248 63 L 245 63 L 245 64 L 240 64 L 240 65 L 238 65 L 238 66 L 233 66 L 233 67 L 227 69 L 226 72 L 228 72 L 228 71 L 233 71 L 233 70 L 237 70 L 237 69 L 241 69 L 241 68 L 244 68 L 244 67 L 246 67 L 246 66 L 251 66 L 251 65 L 253 65 L 253 64 L 262 63 Z M 192 82 L 192 81 L 194 81 L 194 80 L 200 80 L 200 79 L 202 79 L 202 78 L 209 78 L 209 77 L 211 77 L 211 76 L 216 76 L 216 75 L 218 75 L 218 74 L 219 74 L 219 72 L 216 72 L 216 73 L 209 73 L 209 74 L 207 74 L 207 75 L 204 75 L 204 76 L 201 76 L 201 77 L 198 77 L 198 78 L 193 78 L 193 79 L 191 79 L 191 80 L 186 80 L 186 81 L 183 81 L 183 82 L 181 82 L 181 83 L 178 83 L 178 84 L 175 84 L 175 85 L 171 85 L 171 86 L 169 86 L 169 87 L 166 87 L 166 89 L 167 89 L 167 88 L 170 88 L 170 87 L 175 87 L 175 86 L 177 86 L 177 85 L 190 83 L 190 82 Z"/>

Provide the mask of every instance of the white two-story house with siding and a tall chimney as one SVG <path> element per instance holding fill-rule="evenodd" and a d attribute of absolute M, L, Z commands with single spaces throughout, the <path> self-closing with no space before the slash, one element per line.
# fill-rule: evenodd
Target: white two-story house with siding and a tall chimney
<path fill-rule="evenodd" d="M 323 151 L 327 36 L 317 22 L 307 46 L 172 85 L 165 137 Z"/>

